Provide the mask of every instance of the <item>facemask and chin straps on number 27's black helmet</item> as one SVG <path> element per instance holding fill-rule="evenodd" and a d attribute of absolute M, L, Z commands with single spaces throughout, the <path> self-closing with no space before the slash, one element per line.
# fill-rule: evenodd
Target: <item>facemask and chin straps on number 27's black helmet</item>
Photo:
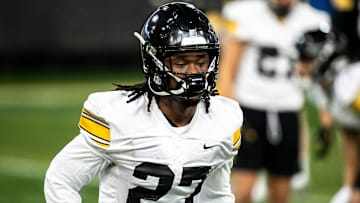
<path fill-rule="evenodd" d="M 135 36 L 141 42 L 144 63 L 143 70 L 148 80 L 150 90 L 158 96 L 173 95 L 186 101 L 199 101 L 201 97 L 209 95 L 215 91 L 217 64 L 218 64 L 218 48 L 208 47 L 183 47 L 181 51 L 163 51 L 159 56 L 159 51 L 150 43 L 146 42 L 139 33 Z M 167 67 L 163 61 L 167 57 L 171 57 L 179 52 L 200 52 L 207 51 L 210 62 L 206 72 L 201 73 L 179 73 L 173 72 L 172 67 Z M 214 52 L 215 51 L 215 52 Z M 214 54 L 216 53 L 216 54 Z M 171 60 L 170 60 L 171 62 Z M 151 64 L 149 67 L 146 64 Z M 176 85 L 172 85 L 173 81 Z"/>

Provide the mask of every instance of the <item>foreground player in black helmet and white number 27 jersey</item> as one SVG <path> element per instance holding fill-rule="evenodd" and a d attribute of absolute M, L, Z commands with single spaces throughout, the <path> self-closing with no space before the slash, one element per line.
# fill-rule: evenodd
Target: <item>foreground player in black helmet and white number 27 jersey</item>
<path fill-rule="evenodd" d="M 169 3 L 135 36 L 146 81 L 88 97 L 80 134 L 47 170 L 46 201 L 81 202 L 100 174 L 99 202 L 233 203 L 243 118 L 238 103 L 216 96 L 213 27 L 192 4 Z"/>

